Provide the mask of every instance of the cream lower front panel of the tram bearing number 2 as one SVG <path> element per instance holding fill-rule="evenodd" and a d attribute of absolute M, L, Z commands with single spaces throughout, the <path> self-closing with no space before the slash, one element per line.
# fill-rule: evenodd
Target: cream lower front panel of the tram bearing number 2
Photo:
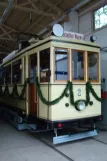
<path fill-rule="evenodd" d="M 65 88 L 64 85 L 53 85 L 51 92 L 52 92 L 52 99 L 57 98 L 62 93 L 63 89 Z M 82 90 L 82 95 L 77 95 L 77 90 Z M 100 96 L 100 86 L 94 85 L 94 89 L 96 93 Z M 85 99 L 85 86 L 84 85 L 74 85 L 74 98 L 75 100 L 78 99 Z M 69 97 L 64 97 L 58 104 L 51 106 L 51 113 L 52 117 L 50 120 L 69 120 L 69 119 L 78 119 L 78 118 L 86 118 L 97 116 L 101 114 L 101 103 L 96 101 L 95 98 L 90 95 L 91 100 L 93 101 L 92 106 L 87 106 L 84 111 L 77 111 L 74 106 L 70 104 Z M 66 107 L 65 104 L 69 103 L 69 107 Z"/>

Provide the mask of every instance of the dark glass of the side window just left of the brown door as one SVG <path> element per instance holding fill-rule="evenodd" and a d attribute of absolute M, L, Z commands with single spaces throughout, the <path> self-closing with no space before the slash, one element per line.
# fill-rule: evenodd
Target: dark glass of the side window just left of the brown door
<path fill-rule="evenodd" d="M 21 83 L 22 79 L 22 70 L 21 70 L 21 59 L 17 60 L 12 64 L 12 82 L 13 83 Z"/>

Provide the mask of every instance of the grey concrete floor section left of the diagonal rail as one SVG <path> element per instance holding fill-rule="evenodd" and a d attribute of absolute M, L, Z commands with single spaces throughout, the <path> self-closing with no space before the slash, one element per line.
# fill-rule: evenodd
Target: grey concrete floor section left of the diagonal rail
<path fill-rule="evenodd" d="M 31 135 L 0 123 L 0 161 L 67 161 Z"/>

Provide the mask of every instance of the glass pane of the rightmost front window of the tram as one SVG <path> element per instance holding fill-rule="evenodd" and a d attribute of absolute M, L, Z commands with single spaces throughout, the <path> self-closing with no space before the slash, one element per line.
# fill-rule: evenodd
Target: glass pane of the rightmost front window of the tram
<path fill-rule="evenodd" d="M 98 53 L 88 52 L 88 80 L 98 81 Z"/>

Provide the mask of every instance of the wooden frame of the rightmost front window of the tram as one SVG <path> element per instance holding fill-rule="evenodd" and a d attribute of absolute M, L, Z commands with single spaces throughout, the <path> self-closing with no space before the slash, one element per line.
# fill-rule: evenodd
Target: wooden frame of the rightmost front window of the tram
<path fill-rule="evenodd" d="M 88 54 L 94 53 L 97 55 L 97 80 L 89 80 L 88 76 Z M 87 51 L 87 80 L 91 83 L 99 83 L 100 82 L 100 60 L 99 60 L 99 52 L 94 52 L 94 51 Z"/>

